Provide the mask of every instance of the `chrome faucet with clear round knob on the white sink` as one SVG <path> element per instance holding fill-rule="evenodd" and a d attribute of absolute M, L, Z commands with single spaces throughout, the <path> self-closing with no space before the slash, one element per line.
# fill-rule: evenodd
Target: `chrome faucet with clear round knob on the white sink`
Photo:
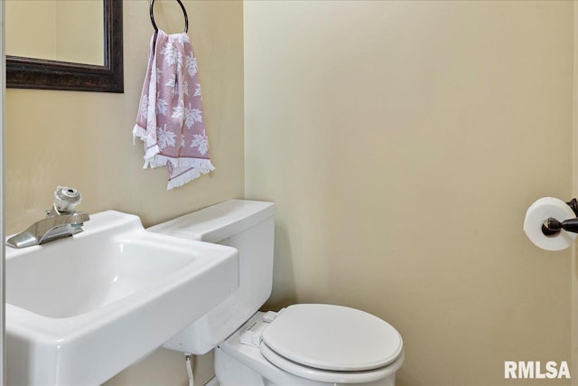
<path fill-rule="evenodd" d="M 89 213 L 74 210 L 81 200 L 78 190 L 57 187 L 54 203 L 51 210 L 46 211 L 46 218 L 8 239 L 6 245 L 13 248 L 31 247 L 81 232 L 84 222 L 90 220 Z"/>

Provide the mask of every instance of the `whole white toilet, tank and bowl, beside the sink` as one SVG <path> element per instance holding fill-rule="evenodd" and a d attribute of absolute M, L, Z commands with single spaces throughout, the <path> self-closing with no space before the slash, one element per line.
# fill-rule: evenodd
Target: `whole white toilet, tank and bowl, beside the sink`
<path fill-rule="evenodd" d="M 164 347 L 194 354 L 215 348 L 222 386 L 395 385 L 403 341 L 377 316 L 331 305 L 257 312 L 271 295 L 274 216 L 272 202 L 231 200 L 148 229 L 239 253 L 238 290 Z"/>

